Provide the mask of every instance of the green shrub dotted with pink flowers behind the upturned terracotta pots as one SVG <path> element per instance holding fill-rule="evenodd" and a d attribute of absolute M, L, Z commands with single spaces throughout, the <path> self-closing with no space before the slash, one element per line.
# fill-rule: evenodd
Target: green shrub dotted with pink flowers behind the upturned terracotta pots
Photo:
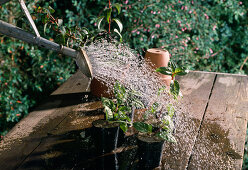
<path fill-rule="evenodd" d="M 148 48 L 162 47 L 193 70 L 248 73 L 247 63 L 243 65 L 248 54 L 247 1 L 115 2 L 122 4 L 124 42 L 142 56 Z M 96 16 L 107 2 L 72 0 L 72 4 L 72 10 L 66 10 L 69 25 L 96 29 Z"/>

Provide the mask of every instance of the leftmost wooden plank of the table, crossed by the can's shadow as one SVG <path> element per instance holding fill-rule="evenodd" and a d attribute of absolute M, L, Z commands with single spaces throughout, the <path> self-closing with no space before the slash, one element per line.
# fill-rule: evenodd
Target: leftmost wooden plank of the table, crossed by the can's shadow
<path fill-rule="evenodd" d="M 0 143 L 0 169 L 15 169 L 41 142 L 41 138 L 54 129 L 82 102 L 88 82 L 80 73 L 76 73 L 65 82 L 49 101 L 45 101 L 20 121 Z M 72 93 L 70 95 L 65 95 Z"/>

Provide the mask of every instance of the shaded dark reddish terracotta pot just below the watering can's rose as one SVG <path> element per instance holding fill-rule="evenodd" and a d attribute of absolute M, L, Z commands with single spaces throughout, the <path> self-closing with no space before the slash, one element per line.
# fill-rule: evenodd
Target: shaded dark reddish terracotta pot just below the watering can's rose
<path fill-rule="evenodd" d="M 113 90 L 110 89 L 106 83 L 100 81 L 96 78 L 91 80 L 90 91 L 96 97 L 106 97 L 106 98 L 114 98 Z"/>

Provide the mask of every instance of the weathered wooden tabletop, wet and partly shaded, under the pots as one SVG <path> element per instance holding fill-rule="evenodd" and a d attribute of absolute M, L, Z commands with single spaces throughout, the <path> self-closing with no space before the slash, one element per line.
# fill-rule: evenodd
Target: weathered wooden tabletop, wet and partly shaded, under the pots
<path fill-rule="evenodd" d="M 77 72 L 6 135 L 1 169 L 80 169 L 90 156 L 79 138 L 103 118 L 94 111 L 101 104 L 86 91 L 88 81 Z M 177 143 L 164 146 L 160 169 L 241 169 L 248 77 L 190 72 L 179 81 L 189 110 L 176 123 Z"/>

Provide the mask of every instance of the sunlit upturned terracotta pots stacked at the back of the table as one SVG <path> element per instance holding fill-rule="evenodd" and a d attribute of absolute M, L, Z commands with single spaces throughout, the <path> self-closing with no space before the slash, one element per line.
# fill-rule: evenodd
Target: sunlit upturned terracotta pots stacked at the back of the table
<path fill-rule="evenodd" d="M 156 69 L 158 67 L 167 67 L 170 60 L 170 54 L 168 51 L 159 49 L 159 48 L 151 48 L 146 51 L 145 61 L 150 63 L 151 67 Z M 161 75 L 161 79 L 165 82 L 167 86 L 170 85 L 171 76 Z"/>

